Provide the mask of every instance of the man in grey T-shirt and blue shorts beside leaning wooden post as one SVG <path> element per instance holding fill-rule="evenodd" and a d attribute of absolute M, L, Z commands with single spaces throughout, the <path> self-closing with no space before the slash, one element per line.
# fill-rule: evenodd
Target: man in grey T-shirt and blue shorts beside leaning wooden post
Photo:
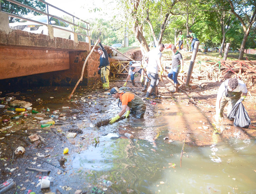
<path fill-rule="evenodd" d="M 168 77 L 174 82 L 174 90 L 172 93 L 176 93 L 178 91 L 179 82 L 178 82 L 178 74 L 183 72 L 183 58 L 179 51 L 177 51 L 175 45 L 172 45 L 172 68 L 168 73 Z"/>

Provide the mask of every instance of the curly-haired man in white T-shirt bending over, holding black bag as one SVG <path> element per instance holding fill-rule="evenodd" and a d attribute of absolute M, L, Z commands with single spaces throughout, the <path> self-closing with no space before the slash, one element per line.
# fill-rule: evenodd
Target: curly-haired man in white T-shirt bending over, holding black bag
<path fill-rule="evenodd" d="M 242 97 L 241 97 L 242 95 Z M 233 106 L 241 98 L 244 100 L 247 96 L 247 87 L 243 81 L 236 78 L 230 78 L 224 81 L 218 89 L 216 98 L 215 121 L 219 122 L 223 118 L 223 110 L 227 105 L 227 117 Z"/>

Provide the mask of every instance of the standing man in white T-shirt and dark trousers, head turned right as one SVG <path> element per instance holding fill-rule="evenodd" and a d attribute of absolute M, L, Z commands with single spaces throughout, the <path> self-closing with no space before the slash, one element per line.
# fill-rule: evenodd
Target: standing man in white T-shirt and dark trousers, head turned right
<path fill-rule="evenodd" d="M 151 78 L 150 86 L 148 87 L 146 98 L 161 98 L 157 95 L 157 79 L 159 75 L 163 73 L 163 67 L 161 65 L 161 57 L 164 45 L 160 44 L 156 49 L 151 50 L 147 53 L 148 55 L 148 76 Z M 160 70 L 160 73 L 158 71 Z M 152 96 L 151 96 L 152 93 Z"/>

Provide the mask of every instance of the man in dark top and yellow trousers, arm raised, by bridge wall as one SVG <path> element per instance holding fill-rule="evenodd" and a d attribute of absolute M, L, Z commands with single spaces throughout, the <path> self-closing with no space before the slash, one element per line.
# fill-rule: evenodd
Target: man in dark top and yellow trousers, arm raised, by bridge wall
<path fill-rule="evenodd" d="M 110 63 L 108 61 L 108 53 L 106 49 L 102 46 L 100 39 L 99 39 L 99 45 L 100 48 L 98 48 L 98 53 L 100 54 L 99 58 L 99 67 L 98 71 L 101 70 L 100 73 L 100 79 L 103 83 L 103 90 L 108 90 L 109 89 L 109 81 L 108 81 L 108 76 L 110 73 Z"/>

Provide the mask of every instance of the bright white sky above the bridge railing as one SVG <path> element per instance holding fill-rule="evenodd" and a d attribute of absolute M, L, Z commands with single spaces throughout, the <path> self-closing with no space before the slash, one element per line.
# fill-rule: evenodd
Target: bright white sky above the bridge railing
<path fill-rule="evenodd" d="M 116 14 L 116 0 L 45 0 L 82 20 L 104 18 L 110 20 Z M 49 14 L 62 17 L 65 13 L 49 8 Z"/>

